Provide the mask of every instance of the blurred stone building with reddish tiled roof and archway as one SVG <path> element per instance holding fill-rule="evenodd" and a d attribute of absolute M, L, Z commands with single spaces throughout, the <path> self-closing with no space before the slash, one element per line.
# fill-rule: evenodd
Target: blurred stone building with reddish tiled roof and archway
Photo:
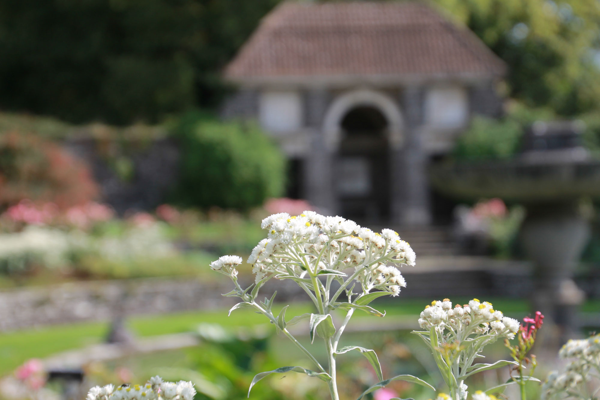
<path fill-rule="evenodd" d="M 505 65 L 418 2 L 284 2 L 227 65 L 226 118 L 256 118 L 323 212 L 433 222 L 427 166 L 473 114 L 497 117 Z"/>

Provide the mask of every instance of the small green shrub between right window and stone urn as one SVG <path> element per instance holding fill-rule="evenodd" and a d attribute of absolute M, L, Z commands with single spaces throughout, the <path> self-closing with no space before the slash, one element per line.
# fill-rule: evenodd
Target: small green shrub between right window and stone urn
<path fill-rule="evenodd" d="M 460 160 L 508 159 L 517 153 L 521 136 L 523 127 L 512 118 L 496 121 L 475 117 L 458 138 L 454 156 Z"/>

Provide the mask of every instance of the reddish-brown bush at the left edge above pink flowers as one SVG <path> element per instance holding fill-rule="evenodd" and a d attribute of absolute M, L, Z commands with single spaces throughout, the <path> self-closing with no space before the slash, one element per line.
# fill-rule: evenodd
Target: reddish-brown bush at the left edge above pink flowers
<path fill-rule="evenodd" d="M 23 199 L 71 207 L 97 194 L 86 166 L 58 145 L 22 132 L 0 133 L 0 208 Z"/>

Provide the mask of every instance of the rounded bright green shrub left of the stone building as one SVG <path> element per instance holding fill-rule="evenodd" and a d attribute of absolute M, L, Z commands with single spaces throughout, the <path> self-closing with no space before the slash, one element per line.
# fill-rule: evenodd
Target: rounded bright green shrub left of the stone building
<path fill-rule="evenodd" d="M 281 195 L 284 157 L 256 124 L 193 112 L 182 117 L 175 136 L 182 155 L 174 202 L 245 211 Z"/>

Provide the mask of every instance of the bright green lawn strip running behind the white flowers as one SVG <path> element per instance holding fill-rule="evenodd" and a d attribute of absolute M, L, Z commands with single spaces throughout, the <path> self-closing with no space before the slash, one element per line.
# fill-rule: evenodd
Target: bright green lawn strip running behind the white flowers
<path fill-rule="evenodd" d="M 441 299 L 440 299 L 441 300 Z M 452 298 L 452 302 L 466 303 L 468 298 Z M 485 298 L 494 304 L 494 308 L 515 318 L 528 314 L 527 303 L 521 299 Z M 418 318 L 419 312 L 427 305 L 428 300 L 418 298 L 394 298 L 371 305 L 380 311 L 386 311 L 388 317 L 395 315 L 413 315 Z M 275 311 L 281 306 L 275 306 Z M 584 312 L 598 312 L 600 300 L 586 302 Z M 307 303 L 296 304 L 287 309 L 287 318 L 293 315 L 312 312 L 313 306 Z M 362 312 L 356 312 L 356 318 L 374 318 Z M 168 333 L 190 332 L 199 323 L 217 323 L 225 327 L 254 326 L 265 324 L 265 317 L 254 313 L 251 309 L 239 309 L 227 317 L 227 310 L 180 312 L 169 315 L 145 316 L 130 318 L 128 326 L 139 336 L 166 335 Z M 7 374 L 16 366 L 32 357 L 43 358 L 60 351 L 83 347 L 101 342 L 109 329 L 106 323 L 80 323 L 61 326 L 27 329 L 0 335 L 0 375 Z"/>

